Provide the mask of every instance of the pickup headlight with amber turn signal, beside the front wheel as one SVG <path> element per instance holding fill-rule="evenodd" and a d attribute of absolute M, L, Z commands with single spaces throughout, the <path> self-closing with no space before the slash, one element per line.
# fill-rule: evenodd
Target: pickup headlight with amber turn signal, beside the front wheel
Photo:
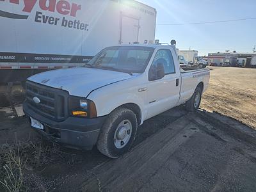
<path fill-rule="evenodd" d="M 81 97 L 68 97 L 68 111 L 72 116 L 87 118 L 97 117 L 96 106 L 92 100 Z"/>

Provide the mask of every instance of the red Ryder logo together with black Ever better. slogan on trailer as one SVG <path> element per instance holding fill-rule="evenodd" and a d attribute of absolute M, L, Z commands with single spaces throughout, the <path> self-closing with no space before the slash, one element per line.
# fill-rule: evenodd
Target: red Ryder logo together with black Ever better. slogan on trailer
<path fill-rule="evenodd" d="M 35 22 L 88 31 L 89 24 L 81 22 L 80 20 L 68 20 L 66 17 L 59 18 L 44 15 L 44 12 L 57 12 L 60 15 L 67 15 L 67 17 L 74 18 L 77 16 L 77 12 L 81 10 L 81 4 L 69 3 L 65 0 L 0 0 L 0 4 L 2 1 L 3 3 L 19 5 L 20 11 L 24 12 L 24 14 L 10 13 L 0 10 L 0 17 L 8 17 L 12 19 L 28 19 L 29 15 L 27 14 L 36 9 L 34 19 Z M 40 8 L 39 10 L 37 10 L 38 7 Z"/>

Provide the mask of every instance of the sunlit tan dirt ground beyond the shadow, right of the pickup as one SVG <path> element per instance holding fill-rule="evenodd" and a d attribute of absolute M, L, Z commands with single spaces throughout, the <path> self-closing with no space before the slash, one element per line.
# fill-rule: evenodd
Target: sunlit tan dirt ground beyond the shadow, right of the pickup
<path fill-rule="evenodd" d="M 211 67 L 201 108 L 237 119 L 256 129 L 256 68 Z"/>

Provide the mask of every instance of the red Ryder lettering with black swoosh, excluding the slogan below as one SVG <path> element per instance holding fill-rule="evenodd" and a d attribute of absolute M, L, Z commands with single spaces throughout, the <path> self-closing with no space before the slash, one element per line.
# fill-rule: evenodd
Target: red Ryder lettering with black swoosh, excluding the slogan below
<path fill-rule="evenodd" d="M 20 4 L 20 0 L 0 0 L 6 1 L 7 3 Z M 76 3 L 68 3 L 68 1 L 64 0 L 22 0 L 24 7 L 22 8 L 22 12 L 31 13 L 35 4 L 38 2 L 39 7 L 43 11 L 49 12 L 58 12 L 61 15 L 70 15 L 72 17 L 76 17 L 76 13 L 78 10 L 81 10 L 81 4 Z M 19 15 L 15 13 L 4 12 L 0 10 L 1 17 L 8 17 L 13 19 L 28 19 L 28 15 Z"/>

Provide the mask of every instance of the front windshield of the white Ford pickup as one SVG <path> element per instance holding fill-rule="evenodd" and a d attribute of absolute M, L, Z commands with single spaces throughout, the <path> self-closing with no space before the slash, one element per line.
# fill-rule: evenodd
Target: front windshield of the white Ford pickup
<path fill-rule="evenodd" d="M 147 67 L 154 48 L 140 46 L 107 47 L 99 52 L 86 66 L 142 73 Z"/>

